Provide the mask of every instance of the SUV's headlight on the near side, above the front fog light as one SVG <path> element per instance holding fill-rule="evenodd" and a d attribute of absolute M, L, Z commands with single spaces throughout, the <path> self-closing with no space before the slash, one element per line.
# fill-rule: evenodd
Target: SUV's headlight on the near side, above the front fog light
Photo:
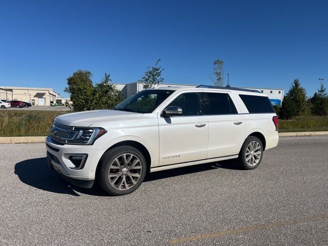
<path fill-rule="evenodd" d="M 74 127 L 75 138 L 67 140 L 67 144 L 92 145 L 96 139 L 103 136 L 107 131 L 103 128 L 78 128 Z"/>

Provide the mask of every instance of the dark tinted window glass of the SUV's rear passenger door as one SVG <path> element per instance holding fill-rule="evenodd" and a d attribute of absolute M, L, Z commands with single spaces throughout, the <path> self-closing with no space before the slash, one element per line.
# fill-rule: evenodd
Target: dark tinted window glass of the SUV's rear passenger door
<path fill-rule="evenodd" d="M 237 114 L 237 109 L 228 93 L 203 93 L 204 113 L 214 114 Z"/>

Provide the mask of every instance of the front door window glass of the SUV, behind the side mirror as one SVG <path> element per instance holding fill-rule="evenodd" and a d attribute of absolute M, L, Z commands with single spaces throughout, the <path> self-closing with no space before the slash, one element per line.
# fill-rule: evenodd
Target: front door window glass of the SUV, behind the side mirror
<path fill-rule="evenodd" d="M 182 116 L 202 115 L 199 93 L 183 93 L 175 98 L 169 106 L 177 106 L 182 109 Z M 169 107 L 168 106 L 168 107 Z"/>

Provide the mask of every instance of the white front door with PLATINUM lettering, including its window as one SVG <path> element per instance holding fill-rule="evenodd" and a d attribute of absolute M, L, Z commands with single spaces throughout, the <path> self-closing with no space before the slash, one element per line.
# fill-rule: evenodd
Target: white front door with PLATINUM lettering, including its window
<path fill-rule="evenodd" d="M 161 116 L 169 106 L 180 107 L 182 115 Z M 200 93 L 180 93 L 161 112 L 158 113 L 159 165 L 206 159 L 209 125 L 200 107 Z"/>

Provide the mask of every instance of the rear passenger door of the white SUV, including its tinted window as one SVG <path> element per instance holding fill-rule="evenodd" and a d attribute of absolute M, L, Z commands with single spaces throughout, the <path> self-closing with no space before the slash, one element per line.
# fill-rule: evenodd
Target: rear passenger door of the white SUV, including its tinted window
<path fill-rule="evenodd" d="M 209 118 L 207 158 L 236 155 L 245 139 L 245 122 L 229 92 L 204 91 L 204 113 Z"/>

